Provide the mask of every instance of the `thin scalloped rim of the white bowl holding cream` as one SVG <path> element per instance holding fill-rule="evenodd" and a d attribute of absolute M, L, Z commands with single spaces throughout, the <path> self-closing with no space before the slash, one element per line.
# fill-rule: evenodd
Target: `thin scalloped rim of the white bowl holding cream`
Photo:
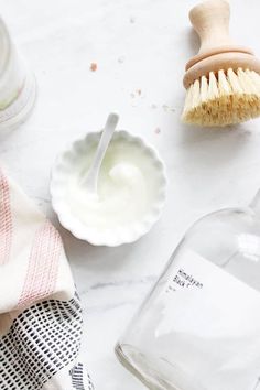
<path fill-rule="evenodd" d="M 167 177 L 165 173 L 164 162 L 160 158 L 154 147 L 147 143 L 141 137 L 132 136 L 126 130 L 116 131 L 113 137 L 122 137 L 127 141 L 134 141 L 137 144 L 139 144 L 139 147 L 150 153 L 150 156 L 155 162 L 156 169 L 161 175 L 161 187 L 159 193 L 160 196 L 152 205 L 151 212 L 148 214 L 148 216 L 145 216 L 145 218 L 141 219 L 140 221 L 134 224 L 134 226 L 131 226 L 128 229 L 118 228 L 118 235 L 115 235 L 115 229 L 111 231 L 111 234 L 109 234 L 108 231 L 104 234 L 94 231 L 93 228 L 83 226 L 83 224 L 78 224 L 78 220 L 74 216 L 72 216 L 69 212 L 66 212 L 64 202 L 62 201 L 61 196 L 63 189 L 62 183 L 64 181 L 64 177 L 61 177 L 61 171 L 64 169 L 64 156 L 69 152 L 74 152 L 76 144 L 78 145 L 82 142 L 87 143 L 89 140 L 94 140 L 99 134 L 100 131 L 89 132 L 85 138 L 75 140 L 68 149 L 64 150 L 57 155 L 51 171 L 50 193 L 52 197 L 53 209 L 57 214 L 61 225 L 67 230 L 69 230 L 76 238 L 85 240 L 94 246 L 118 247 L 123 243 L 131 243 L 137 241 L 139 238 L 148 234 L 153 227 L 153 225 L 160 219 L 166 199 Z"/>

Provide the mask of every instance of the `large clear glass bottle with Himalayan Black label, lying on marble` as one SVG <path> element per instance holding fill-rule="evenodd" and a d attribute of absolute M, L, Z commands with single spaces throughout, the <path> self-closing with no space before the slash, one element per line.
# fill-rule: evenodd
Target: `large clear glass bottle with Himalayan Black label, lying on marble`
<path fill-rule="evenodd" d="M 116 346 L 153 390 L 260 390 L 260 194 L 187 231 Z"/>

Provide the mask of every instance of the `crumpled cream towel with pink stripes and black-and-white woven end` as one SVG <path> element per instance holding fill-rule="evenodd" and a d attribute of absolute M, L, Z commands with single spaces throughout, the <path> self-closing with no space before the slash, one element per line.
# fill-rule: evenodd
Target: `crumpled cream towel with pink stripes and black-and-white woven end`
<path fill-rule="evenodd" d="M 57 230 L 0 171 L 0 389 L 93 390 L 82 325 Z"/>

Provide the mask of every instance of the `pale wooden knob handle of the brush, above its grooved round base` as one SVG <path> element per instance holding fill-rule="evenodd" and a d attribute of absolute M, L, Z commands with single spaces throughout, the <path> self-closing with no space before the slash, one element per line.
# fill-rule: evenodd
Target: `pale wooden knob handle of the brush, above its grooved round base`
<path fill-rule="evenodd" d="M 236 45 L 229 36 L 230 7 L 226 0 L 207 0 L 194 7 L 189 20 L 201 37 L 201 50 L 186 65 L 219 53 L 240 52 L 252 54 L 248 47 Z"/>

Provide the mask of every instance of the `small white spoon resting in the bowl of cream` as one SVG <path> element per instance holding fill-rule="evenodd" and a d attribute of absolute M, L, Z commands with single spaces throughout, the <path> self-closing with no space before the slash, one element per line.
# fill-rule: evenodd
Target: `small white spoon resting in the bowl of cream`
<path fill-rule="evenodd" d="M 113 131 L 118 124 L 118 121 L 119 121 L 119 116 L 117 113 L 115 112 L 109 113 L 100 141 L 98 143 L 96 154 L 90 165 L 90 169 L 87 172 L 86 176 L 83 177 L 82 181 L 82 184 L 85 186 L 86 192 L 88 192 L 94 196 L 98 196 L 97 183 L 98 183 L 100 166 L 105 158 L 105 154 L 107 152 L 108 145 L 111 141 Z"/>

